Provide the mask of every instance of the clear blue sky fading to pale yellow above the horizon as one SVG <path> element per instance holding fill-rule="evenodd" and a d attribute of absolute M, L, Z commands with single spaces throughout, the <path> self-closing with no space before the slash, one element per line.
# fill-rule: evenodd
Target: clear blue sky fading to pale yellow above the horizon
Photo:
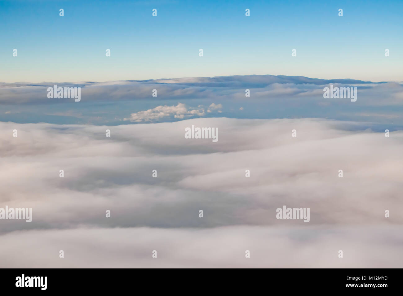
<path fill-rule="evenodd" d="M 402 81 L 402 10 L 403 1 L 0 1 L 0 81 Z"/>

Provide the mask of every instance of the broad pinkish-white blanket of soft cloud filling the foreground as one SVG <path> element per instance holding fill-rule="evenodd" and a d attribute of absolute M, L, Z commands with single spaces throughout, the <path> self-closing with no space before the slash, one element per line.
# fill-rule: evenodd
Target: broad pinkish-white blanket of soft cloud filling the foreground
<path fill-rule="evenodd" d="M 219 141 L 185 139 L 192 124 L 218 127 Z M 2 122 L 0 207 L 32 207 L 33 221 L 0 220 L 0 262 L 401 267 L 403 132 L 384 137 L 367 128 L 318 119 L 194 118 L 112 127 Z M 310 222 L 276 219 L 283 205 L 310 207 Z M 148 260 L 151 250 L 158 250 L 158 263 Z M 378 260 L 369 261 L 374 252 Z"/>

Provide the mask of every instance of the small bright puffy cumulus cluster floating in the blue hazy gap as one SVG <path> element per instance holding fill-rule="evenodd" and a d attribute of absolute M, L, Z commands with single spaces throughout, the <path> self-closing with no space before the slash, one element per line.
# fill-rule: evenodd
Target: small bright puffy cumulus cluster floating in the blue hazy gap
<path fill-rule="evenodd" d="M 183 119 L 193 116 L 204 116 L 205 113 L 203 108 L 201 109 L 187 108 L 185 104 L 178 103 L 177 106 L 166 106 L 166 105 L 157 106 L 156 108 L 149 109 L 146 111 L 139 111 L 137 113 L 132 113 L 130 118 L 124 118 L 124 120 L 130 120 L 132 122 L 142 122 L 142 121 L 147 122 L 152 120 L 160 120 L 164 117 L 170 117 L 172 115 L 174 116 L 174 118 Z"/>

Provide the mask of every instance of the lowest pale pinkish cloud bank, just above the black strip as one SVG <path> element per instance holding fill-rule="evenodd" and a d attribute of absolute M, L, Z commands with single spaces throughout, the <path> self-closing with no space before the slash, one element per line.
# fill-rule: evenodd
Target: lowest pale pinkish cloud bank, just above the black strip
<path fill-rule="evenodd" d="M 399 226 L 23 231 L 1 236 L 0 259 L 4 268 L 401 268 L 396 236 L 401 231 Z M 152 259 L 152 250 L 158 259 Z M 368 260 L 374 254 L 377 260 Z"/>

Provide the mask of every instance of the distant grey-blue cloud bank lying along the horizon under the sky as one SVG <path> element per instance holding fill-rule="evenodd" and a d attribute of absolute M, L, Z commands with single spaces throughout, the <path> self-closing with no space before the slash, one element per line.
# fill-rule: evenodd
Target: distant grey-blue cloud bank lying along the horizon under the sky
<path fill-rule="evenodd" d="M 251 90 L 253 98 L 278 98 L 290 96 L 313 96 L 323 99 L 323 87 L 333 83 L 339 86 L 359 85 L 364 95 L 379 89 L 388 93 L 389 104 L 402 104 L 402 85 L 399 83 L 372 83 L 353 79 L 312 79 L 302 76 L 284 75 L 245 75 L 228 77 L 187 77 L 177 79 L 156 79 L 144 81 L 107 81 L 77 83 L 0 83 L 0 102 L 8 104 L 66 102 L 66 99 L 49 99 L 47 88 L 81 87 L 81 99 L 84 101 L 125 101 L 133 99 L 233 99 L 245 98 L 245 89 Z M 158 97 L 152 97 L 157 89 Z M 388 89 L 388 91 L 386 91 Z M 379 99 L 379 97 L 378 97 Z M 68 102 L 68 100 L 67 100 Z M 387 103 L 382 101 L 382 103 Z"/>

